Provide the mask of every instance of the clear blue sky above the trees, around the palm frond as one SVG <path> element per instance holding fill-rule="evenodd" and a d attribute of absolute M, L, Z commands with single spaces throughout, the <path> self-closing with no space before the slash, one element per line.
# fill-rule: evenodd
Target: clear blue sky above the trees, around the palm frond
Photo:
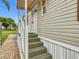
<path fill-rule="evenodd" d="M 8 1 L 10 3 L 10 11 L 7 10 L 5 4 L 0 0 L 0 16 L 13 18 L 18 23 L 17 0 Z M 24 10 L 20 10 L 20 14 L 24 15 Z"/>

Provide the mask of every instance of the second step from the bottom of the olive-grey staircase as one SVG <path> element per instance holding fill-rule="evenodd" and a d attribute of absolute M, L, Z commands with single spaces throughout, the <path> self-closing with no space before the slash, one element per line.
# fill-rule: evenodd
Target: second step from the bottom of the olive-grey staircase
<path fill-rule="evenodd" d="M 42 54 L 42 53 L 44 53 L 46 51 L 47 51 L 47 49 L 45 47 L 42 47 L 42 46 L 37 47 L 37 48 L 29 49 L 29 57 L 33 57 L 33 56 Z"/>

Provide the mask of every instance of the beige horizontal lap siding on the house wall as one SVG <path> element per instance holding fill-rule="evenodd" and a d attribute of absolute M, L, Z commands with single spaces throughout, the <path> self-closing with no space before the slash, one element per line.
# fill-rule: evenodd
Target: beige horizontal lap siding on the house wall
<path fill-rule="evenodd" d="M 44 16 L 41 16 L 39 7 L 38 33 L 43 37 L 78 46 L 77 0 L 47 0 Z"/>

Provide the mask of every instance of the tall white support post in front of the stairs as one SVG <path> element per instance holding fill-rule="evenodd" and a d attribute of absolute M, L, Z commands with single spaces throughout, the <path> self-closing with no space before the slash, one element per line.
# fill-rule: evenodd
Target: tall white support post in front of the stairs
<path fill-rule="evenodd" d="M 25 0 L 25 59 L 28 59 L 27 0 Z"/>

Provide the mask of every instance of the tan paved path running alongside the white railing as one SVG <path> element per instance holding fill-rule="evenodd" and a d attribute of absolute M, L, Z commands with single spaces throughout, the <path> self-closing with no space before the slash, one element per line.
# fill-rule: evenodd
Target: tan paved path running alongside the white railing
<path fill-rule="evenodd" d="M 0 59 L 20 59 L 15 35 L 9 35 L 0 48 Z"/>

